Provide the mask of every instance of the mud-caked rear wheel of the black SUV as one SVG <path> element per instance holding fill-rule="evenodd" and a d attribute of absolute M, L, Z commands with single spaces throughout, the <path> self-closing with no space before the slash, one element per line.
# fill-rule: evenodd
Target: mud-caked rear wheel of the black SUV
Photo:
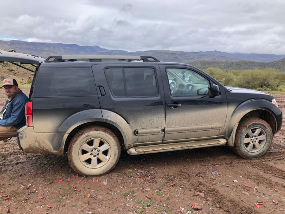
<path fill-rule="evenodd" d="M 120 155 L 117 136 L 102 126 L 80 130 L 68 146 L 68 162 L 80 175 L 106 174 L 115 167 Z"/>

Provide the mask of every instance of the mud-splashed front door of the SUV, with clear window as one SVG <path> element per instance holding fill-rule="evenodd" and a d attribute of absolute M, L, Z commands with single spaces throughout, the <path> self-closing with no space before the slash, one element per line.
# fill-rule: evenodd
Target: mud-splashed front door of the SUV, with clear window
<path fill-rule="evenodd" d="M 164 142 L 217 138 L 227 116 L 227 99 L 213 96 L 213 82 L 191 66 L 160 64 L 166 100 Z"/>

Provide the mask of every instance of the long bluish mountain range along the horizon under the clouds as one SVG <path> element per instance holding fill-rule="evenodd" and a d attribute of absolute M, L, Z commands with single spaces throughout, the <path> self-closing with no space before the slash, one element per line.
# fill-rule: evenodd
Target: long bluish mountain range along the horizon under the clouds
<path fill-rule="evenodd" d="M 160 61 L 167 62 L 194 62 L 194 61 L 224 61 L 237 62 L 240 60 L 251 60 L 257 62 L 273 62 L 285 58 L 285 55 L 275 54 L 243 54 L 243 53 L 225 53 L 221 51 L 167 51 L 167 50 L 150 50 L 127 52 L 122 50 L 108 50 L 99 46 L 80 46 L 76 44 L 62 43 L 39 43 L 24 42 L 19 40 L 1 41 L 0 49 L 7 51 L 14 49 L 20 53 L 33 54 L 46 58 L 52 55 L 74 55 L 74 54 L 94 54 L 94 55 L 142 55 L 154 56 Z"/>

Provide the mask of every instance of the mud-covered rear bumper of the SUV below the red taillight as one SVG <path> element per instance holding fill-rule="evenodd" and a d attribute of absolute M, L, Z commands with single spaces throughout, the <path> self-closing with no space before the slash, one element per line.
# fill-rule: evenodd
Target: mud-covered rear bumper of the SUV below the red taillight
<path fill-rule="evenodd" d="M 18 145 L 24 152 L 64 154 L 62 139 L 65 133 L 37 133 L 34 127 L 23 126 L 17 131 Z"/>

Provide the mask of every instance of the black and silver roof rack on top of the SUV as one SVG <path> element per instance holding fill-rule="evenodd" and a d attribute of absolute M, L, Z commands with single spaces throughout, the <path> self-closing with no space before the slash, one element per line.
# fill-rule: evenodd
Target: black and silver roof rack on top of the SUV
<path fill-rule="evenodd" d="M 153 56 L 120 56 L 120 55 L 63 55 L 63 56 L 49 56 L 44 62 L 74 62 L 74 61 L 86 61 L 101 62 L 108 60 L 143 60 L 143 62 L 159 62 L 158 59 Z"/>

